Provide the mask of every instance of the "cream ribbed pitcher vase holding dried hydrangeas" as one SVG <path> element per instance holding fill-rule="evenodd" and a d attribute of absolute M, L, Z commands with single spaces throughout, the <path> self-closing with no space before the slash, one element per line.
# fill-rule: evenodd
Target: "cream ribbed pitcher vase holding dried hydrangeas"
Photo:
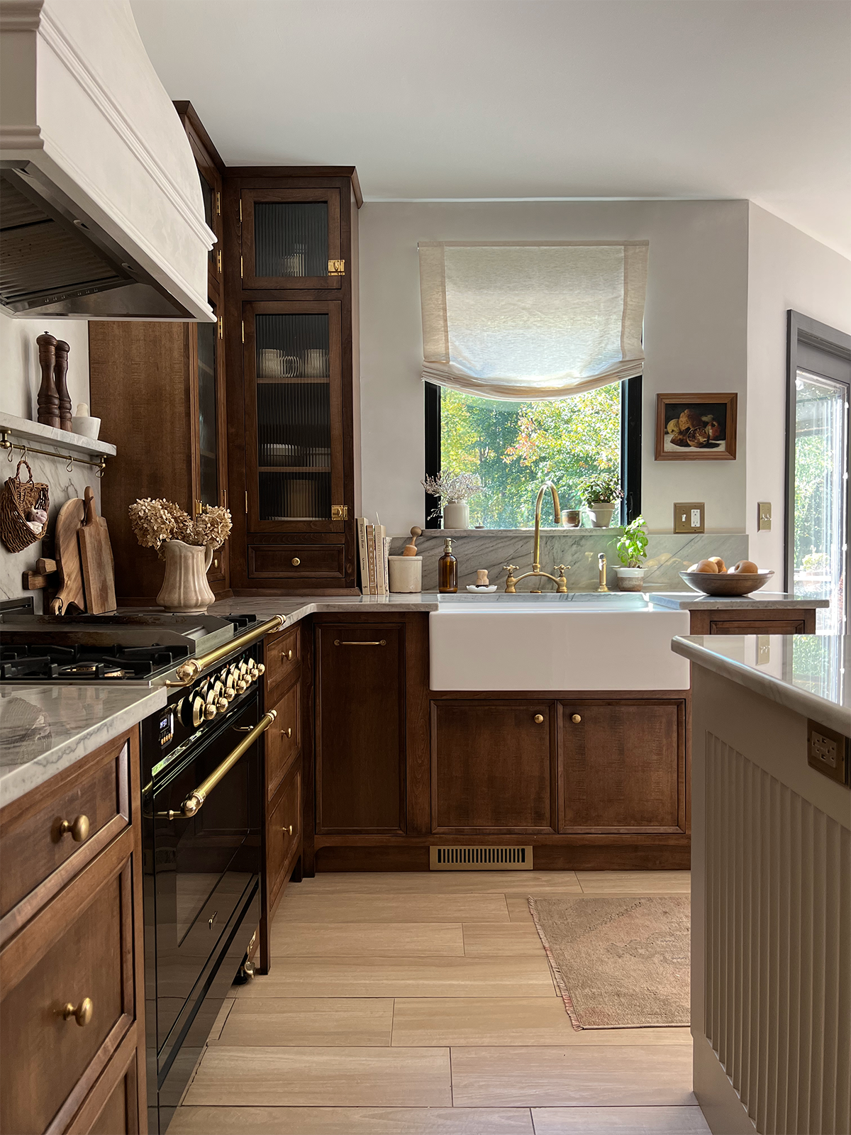
<path fill-rule="evenodd" d="M 207 571 L 216 548 L 230 533 L 230 512 L 207 508 L 194 520 L 171 501 L 145 497 L 130 505 L 130 527 L 143 548 L 166 561 L 157 602 L 166 611 L 203 613 L 216 602 Z"/>

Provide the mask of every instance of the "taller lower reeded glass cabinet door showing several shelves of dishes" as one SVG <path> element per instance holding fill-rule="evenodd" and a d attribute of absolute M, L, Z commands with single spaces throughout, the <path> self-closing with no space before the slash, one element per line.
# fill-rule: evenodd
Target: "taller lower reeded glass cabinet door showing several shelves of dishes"
<path fill-rule="evenodd" d="M 252 531 L 338 531 L 343 503 L 340 305 L 245 305 Z"/>

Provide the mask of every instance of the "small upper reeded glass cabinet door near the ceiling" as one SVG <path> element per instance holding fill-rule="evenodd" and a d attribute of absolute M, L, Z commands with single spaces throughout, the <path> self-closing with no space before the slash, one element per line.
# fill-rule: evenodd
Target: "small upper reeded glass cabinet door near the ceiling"
<path fill-rule="evenodd" d="M 339 190 L 245 190 L 241 208 L 243 287 L 340 287 Z"/>

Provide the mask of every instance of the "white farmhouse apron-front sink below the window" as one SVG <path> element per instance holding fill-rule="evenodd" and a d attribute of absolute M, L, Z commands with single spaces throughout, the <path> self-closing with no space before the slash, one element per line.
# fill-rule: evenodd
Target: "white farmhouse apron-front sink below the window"
<path fill-rule="evenodd" d="M 688 611 L 640 595 L 452 596 L 429 615 L 432 690 L 685 690 Z"/>

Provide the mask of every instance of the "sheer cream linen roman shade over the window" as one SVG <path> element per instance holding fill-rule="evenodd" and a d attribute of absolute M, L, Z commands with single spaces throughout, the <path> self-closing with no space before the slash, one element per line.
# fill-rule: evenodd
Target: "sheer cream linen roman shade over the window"
<path fill-rule="evenodd" d="M 647 241 L 419 250 L 424 381 L 525 402 L 642 372 Z"/>

